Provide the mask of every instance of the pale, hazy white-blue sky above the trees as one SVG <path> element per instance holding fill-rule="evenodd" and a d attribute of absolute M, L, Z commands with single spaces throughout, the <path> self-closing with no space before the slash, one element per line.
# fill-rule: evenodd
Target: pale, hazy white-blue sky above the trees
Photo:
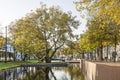
<path fill-rule="evenodd" d="M 0 0 L 0 31 L 5 29 L 12 21 L 24 17 L 31 10 L 36 10 L 40 7 L 40 2 L 43 2 L 48 7 L 59 5 L 60 8 L 67 12 L 71 11 L 73 16 L 81 22 L 79 29 L 75 33 L 82 33 L 86 28 L 86 20 L 80 18 L 80 13 L 76 10 L 75 0 Z"/>

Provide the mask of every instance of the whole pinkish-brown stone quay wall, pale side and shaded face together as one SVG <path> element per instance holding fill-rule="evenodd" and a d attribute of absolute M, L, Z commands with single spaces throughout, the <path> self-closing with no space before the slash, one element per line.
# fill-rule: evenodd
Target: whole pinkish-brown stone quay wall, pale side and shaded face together
<path fill-rule="evenodd" d="M 120 62 L 82 62 L 85 80 L 120 80 Z"/>

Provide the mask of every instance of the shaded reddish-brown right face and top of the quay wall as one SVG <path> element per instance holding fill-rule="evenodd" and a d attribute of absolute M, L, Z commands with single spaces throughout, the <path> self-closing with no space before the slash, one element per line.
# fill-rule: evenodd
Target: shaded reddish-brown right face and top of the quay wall
<path fill-rule="evenodd" d="M 98 76 L 96 80 L 120 80 L 120 63 L 96 63 Z"/>

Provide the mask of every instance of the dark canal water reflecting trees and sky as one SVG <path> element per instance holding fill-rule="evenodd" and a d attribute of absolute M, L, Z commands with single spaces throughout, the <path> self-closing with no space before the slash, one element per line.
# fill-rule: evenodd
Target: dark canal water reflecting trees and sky
<path fill-rule="evenodd" d="M 79 64 L 67 67 L 17 67 L 0 71 L 0 80 L 83 80 Z"/>

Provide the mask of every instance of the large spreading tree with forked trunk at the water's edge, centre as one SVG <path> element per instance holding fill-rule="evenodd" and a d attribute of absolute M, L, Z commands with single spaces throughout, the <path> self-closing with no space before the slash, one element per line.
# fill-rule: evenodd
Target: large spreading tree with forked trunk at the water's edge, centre
<path fill-rule="evenodd" d="M 65 13 L 59 7 L 54 6 L 47 8 L 46 5 L 42 4 L 41 8 L 18 20 L 15 27 L 11 27 L 11 33 L 18 33 L 15 41 L 18 40 L 18 46 L 21 47 L 19 49 L 31 50 L 28 47 L 31 45 L 35 50 L 37 49 L 40 55 L 44 55 L 44 59 L 48 63 L 51 62 L 58 49 L 74 38 L 73 29 L 76 29 L 78 25 L 79 22 L 70 12 Z M 12 36 L 14 36 L 13 34 Z"/>

